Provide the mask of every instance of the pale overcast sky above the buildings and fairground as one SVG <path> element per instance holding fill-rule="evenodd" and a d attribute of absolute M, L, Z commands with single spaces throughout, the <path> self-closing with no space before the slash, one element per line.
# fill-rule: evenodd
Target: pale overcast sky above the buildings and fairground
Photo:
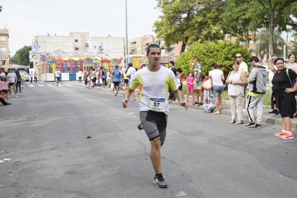
<path fill-rule="evenodd" d="M 0 29 L 10 31 L 10 56 L 31 45 L 36 35 L 68 36 L 71 31 L 102 37 L 126 34 L 124 0 L 1 0 L 0 5 Z M 160 15 L 156 5 L 155 0 L 127 0 L 128 39 L 155 35 L 152 25 Z"/>

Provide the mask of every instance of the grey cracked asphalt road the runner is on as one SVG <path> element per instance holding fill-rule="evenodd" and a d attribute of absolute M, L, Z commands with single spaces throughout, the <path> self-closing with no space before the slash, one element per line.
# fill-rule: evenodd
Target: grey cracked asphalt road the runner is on
<path fill-rule="evenodd" d="M 274 137 L 280 126 L 171 104 L 159 189 L 138 102 L 37 84 L 0 106 L 0 159 L 12 158 L 0 163 L 0 197 L 297 197 L 297 143 Z"/>

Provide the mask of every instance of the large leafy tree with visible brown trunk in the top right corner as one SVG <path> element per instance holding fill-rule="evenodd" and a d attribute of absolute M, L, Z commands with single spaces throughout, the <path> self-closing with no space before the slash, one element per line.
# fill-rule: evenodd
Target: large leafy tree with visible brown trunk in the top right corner
<path fill-rule="evenodd" d="M 231 35 L 246 36 L 260 28 L 269 30 L 270 53 L 274 53 L 274 30 L 287 30 L 287 25 L 297 28 L 295 0 L 226 0 L 221 19 Z"/>

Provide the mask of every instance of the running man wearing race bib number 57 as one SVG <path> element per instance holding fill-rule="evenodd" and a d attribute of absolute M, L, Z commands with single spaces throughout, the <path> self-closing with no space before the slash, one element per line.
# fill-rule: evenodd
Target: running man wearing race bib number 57
<path fill-rule="evenodd" d="M 181 106 L 188 109 L 188 103 L 183 101 L 183 96 L 178 87 L 180 84 L 173 72 L 160 65 L 161 49 L 159 45 L 149 45 L 146 51 L 149 60 L 148 66 L 136 72 L 131 79 L 129 88 L 125 91 L 122 106 L 127 108 L 127 103 L 132 92 L 140 85 L 139 117 L 141 123 L 138 129 L 144 129 L 151 142 L 150 158 L 155 170 L 154 184 L 159 188 L 166 188 L 167 184 L 161 173 L 160 149 L 166 136 L 167 117 L 169 104 L 167 100 L 168 88 L 174 92 Z"/>

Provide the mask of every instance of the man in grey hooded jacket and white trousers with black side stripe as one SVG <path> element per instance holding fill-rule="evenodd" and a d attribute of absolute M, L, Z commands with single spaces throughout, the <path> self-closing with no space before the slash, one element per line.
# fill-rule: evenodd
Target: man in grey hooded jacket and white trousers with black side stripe
<path fill-rule="evenodd" d="M 252 56 L 249 59 L 252 65 L 251 73 L 247 81 L 249 82 L 249 93 L 246 100 L 247 115 L 249 117 L 249 123 L 245 127 L 261 128 L 261 121 L 263 116 L 263 100 L 266 93 L 266 68 L 263 67 L 257 56 Z M 257 120 L 255 123 L 253 108 L 257 110 Z"/>

